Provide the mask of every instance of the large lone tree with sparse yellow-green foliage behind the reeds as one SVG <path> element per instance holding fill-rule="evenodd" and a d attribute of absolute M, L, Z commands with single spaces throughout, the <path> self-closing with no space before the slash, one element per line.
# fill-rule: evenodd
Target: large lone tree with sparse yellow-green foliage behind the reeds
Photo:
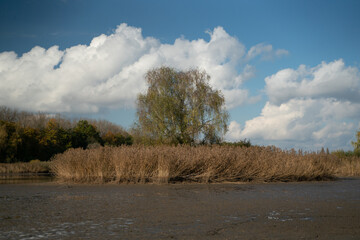
<path fill-rule="evenodd" d="M 199 70 L 161 67 L 146 74 L 148 90 L 137 99 L 135 131 L 161 144 L 219 143 L 227 131 L 225 99 Z M 136 135 L 136 134 L 135 134 Z"/>

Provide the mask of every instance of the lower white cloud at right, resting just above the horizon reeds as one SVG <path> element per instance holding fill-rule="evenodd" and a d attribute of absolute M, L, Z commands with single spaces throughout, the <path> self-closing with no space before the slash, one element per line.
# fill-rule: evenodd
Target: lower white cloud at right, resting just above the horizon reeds
<path fill-rule="evenodd" d="M 329 109 L 331 115 L 323 114 Z M 360 119 L 359 113 L 360 104 L 334 99 L 292 99 L 279 106 L 267 102 L 261 115 L 246 121 L 244 128 L 231 122 L 226 137 L 286 148 L 349 149 L 358 126 L 348 119 Z"/>

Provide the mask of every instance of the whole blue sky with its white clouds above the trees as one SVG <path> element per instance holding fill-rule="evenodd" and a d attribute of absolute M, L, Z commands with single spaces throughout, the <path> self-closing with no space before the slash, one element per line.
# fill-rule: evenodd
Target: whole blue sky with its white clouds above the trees
<path fill-rule="evenodd" d="M 206 71 L 228 141 L 352 149 L 360 1 L 0 0 L 0 105 L 136 121 L 144 75 Z"/>

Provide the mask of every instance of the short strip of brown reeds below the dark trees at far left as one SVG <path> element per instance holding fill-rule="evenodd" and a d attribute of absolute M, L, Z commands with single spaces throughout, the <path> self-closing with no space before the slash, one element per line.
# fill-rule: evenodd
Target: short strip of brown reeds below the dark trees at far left
<path fill-rule="evenodd" d="M 32 160 L 30 162 L 0 163 L 0 174 L 49 173 L 50 162 Z"/>

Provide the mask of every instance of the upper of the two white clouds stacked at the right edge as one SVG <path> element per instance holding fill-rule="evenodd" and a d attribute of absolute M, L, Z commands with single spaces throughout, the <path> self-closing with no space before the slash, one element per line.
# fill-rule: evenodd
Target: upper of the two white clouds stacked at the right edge
<path fill-rule="evenodd" d="M 356 67 L 346 67 L 342 59 L 322 62 L 314 68 L 301 65 L 265 78 L 266 93 L 272 103 L 292 98 L 336 98 L 360 102 L 360 75 Z"/>

